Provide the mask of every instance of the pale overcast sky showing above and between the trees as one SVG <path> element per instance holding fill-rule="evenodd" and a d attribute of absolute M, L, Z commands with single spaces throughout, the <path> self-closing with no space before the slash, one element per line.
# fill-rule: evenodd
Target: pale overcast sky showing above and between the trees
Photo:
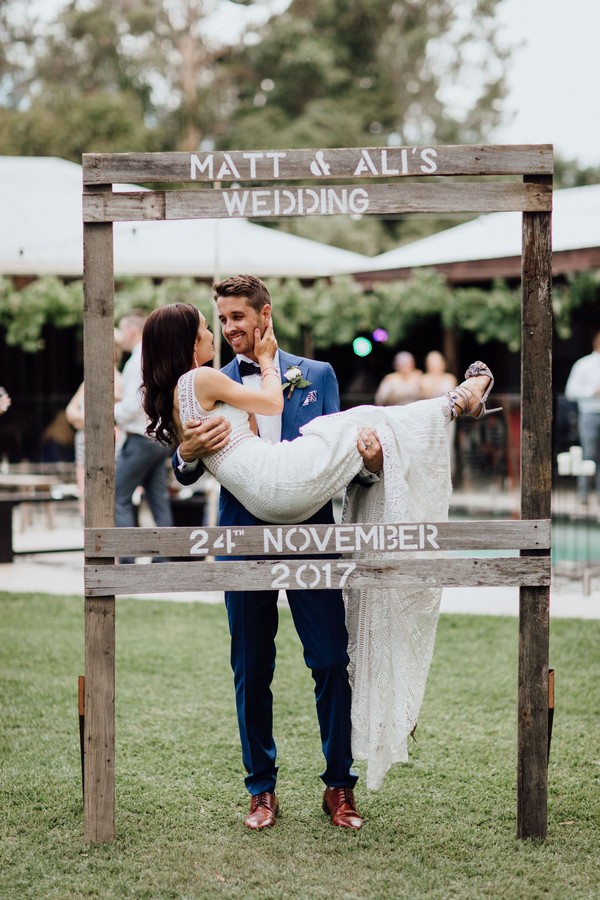
<path fill-rule="evenodd" d="M 52 15 L 65 2 L 26 5 Z M 268 5 L 276 10 L 285 0 Z M 220 34 L 231 34 L 245 14 L 243 7 L 227 6 Z M 567 159 L 600 166 L 600 0 L 503 0 L 499 19 L 507 41 L 524 45 L 512 56 L 507 122 L 490 140 L 551 143 Z"/>

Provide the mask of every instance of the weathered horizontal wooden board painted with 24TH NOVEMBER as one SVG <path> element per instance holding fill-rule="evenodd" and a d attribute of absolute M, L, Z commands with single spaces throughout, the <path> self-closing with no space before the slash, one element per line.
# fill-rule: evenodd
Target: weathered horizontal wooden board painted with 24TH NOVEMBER
<path fill-rule="evenodd" d="M 86 528 L 88 559 L 546 550 L 549 519 L 206 528 Z"/>

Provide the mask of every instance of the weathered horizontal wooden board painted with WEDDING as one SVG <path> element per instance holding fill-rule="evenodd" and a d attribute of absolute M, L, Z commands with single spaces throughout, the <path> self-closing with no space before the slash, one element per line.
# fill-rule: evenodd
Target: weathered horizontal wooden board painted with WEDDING
<path fill-rule="evenodd" d="M 464 181 L 83 195 L 87 223 L 551 209 L 552 189 L 547 185 Z"/>

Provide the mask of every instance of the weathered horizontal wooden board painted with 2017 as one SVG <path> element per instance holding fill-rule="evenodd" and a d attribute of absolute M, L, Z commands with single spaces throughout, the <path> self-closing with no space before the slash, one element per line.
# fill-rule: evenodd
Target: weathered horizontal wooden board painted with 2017
<path fill-rule="evenodd" d="M 549 585 L 549 557 L 255 559 L 84 567 L 87 597 L 177 591 Z"/>

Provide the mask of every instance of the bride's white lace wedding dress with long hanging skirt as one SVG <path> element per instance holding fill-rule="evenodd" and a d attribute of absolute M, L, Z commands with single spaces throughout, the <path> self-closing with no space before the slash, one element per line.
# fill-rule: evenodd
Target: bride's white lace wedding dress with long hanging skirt
<path fill-rule="evenodd" d="M 441 522 L 451 494 L 450 414 L 446 397 L 407 406 L 358 406 L 313 419 L 294 441 L 267 444 L 248 414 L 219 403 L 203 410 L 194 370 L 179 379 L 181 421 L 223 416 L 231 438 L 203 457 L 208 471 L 258 519 L 302 522 L 349 485 L 363 465 L 357 428 L 377 429 L 384 470 L 369 487 L 350 485 L 344 522 Z M 426 553 L 426 551 L 425 551 Z M 399 553 L 403 558 L 406 552 Z M 419 554 L 420 558 L 424 555 Z M 362 553 L 355 558 L 386 558 Z M 367 786 L 377 788 L 394 762 L 408 758 L 433 654 L 440 588 L 346 590 L 352 684 L 352 751 L 367 760 Z"/>

